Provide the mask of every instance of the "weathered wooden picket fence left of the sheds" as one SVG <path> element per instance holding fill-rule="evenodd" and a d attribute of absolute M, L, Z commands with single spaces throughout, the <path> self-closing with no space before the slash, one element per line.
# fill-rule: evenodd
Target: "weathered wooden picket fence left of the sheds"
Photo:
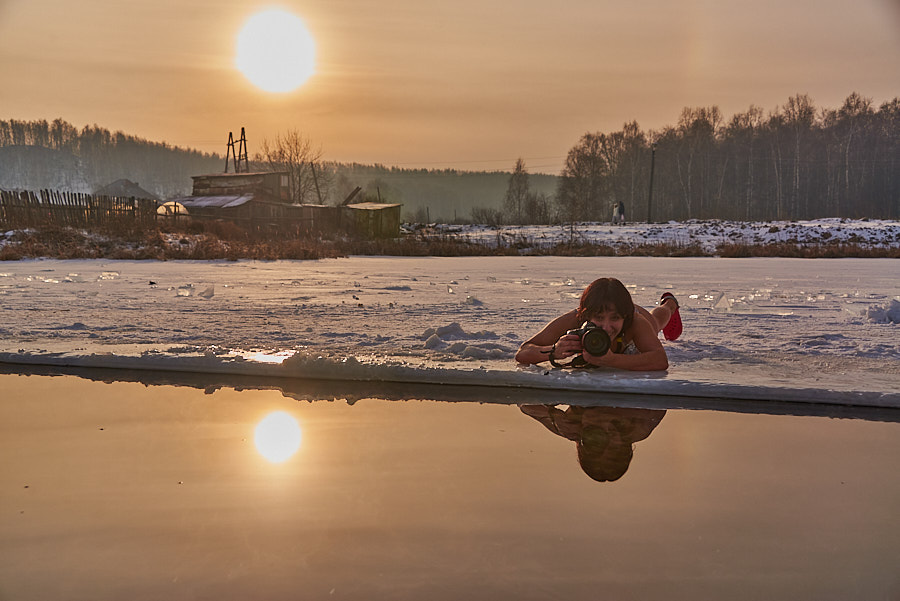
<path fill-rule="evenodd" d="M 0 190 L 0 227 L 46 225 L 95 227 L 152 226 L 156 201 L 146 198 L 93 196 L 78 192 Z"/>

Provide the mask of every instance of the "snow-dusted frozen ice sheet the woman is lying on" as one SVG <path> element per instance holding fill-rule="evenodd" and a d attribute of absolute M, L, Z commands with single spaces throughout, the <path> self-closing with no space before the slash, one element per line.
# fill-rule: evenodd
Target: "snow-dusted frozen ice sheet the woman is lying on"
<path fill-rule="evenodd" d="M 600 276 L 679 298 L 668 373 L 517 368 Z M 0 360 L 900 406 L 898 295 L 892 259 L 17 261 Z"/>

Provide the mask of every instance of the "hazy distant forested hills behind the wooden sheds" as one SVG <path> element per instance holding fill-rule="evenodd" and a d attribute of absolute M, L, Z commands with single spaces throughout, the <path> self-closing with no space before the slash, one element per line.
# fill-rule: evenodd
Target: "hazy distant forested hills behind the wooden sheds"
<path fill-rule="evenodd" d="M 250 168 L 268 169 L 259 156 L 250 161 Z M 320 168 L 330 182 L 323 187 L 326 204 L 339 203 L 359 186 L 357 200 L 402 203 L 405 217 L 419 221 L 468 221 L 473 209 L 499 207 L 509 183 L 504 172 L 333 162 Z M 150 142 L 97 125 L 79 130 L 62 119 L 0 120 L 0 189 L 91 193 L 128 179 L 164 200 L 190 194 L 191 176 L 224 170 L 225 158 L 216 153 Z M 554 193 L 556 176 L 530 177 L 535 190 Z"/>

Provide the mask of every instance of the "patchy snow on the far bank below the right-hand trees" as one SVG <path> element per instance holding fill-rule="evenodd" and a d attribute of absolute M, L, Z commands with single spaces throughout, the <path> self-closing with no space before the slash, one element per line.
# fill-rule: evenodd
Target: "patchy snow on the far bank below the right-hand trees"
<path fill-rule="evenodd" d="M 414 228 L 410 228 L 413 230 Z M 421 229 L 419 230 L 421 231 Z M 613 247 L 643 244 L 699 245 L 713 254 L 722 244 L 859 244 L 876 248 L 900 246 L 900 222 L 886 220 L 815 219 L 810 221 L 686 221 L 669 223 L 582 223 L 568 226 L 437 225 L 435 235 L 452 235 L 481 244 L 528 242 L 548 247 L 571 239 Z"/>

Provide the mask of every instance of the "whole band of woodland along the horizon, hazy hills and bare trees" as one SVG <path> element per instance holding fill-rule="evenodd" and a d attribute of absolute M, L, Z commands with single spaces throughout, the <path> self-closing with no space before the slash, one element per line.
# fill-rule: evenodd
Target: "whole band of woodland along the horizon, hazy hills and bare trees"
<path fill-rule="evenodd" d="M 528 173 L 521 161 L 511 172 L 320 161 L 327 185 L 319 196 L 339 202 L 359 186 L 359 198 L 403 203 L 416 221 L 606 220 L 618 201 L 629 220 L 647 219 L 648 210 L 654 221 L 900 218 L 900 98 L 875 107 L 853 93 L 838 108 L 819 108 L 798 94 L 728 118 L 716 106 L 685 108 L 660 131 L 631 122 L 573 144 L 559 176 Z M 251 167 L 266 167 L 254 158 Z M 91 192 L 126 178 L 165 199 L 189 194 L 192 175 L 224 167 L 218 154 L 97 125 L 0 120 L 4 189 Z"/>

